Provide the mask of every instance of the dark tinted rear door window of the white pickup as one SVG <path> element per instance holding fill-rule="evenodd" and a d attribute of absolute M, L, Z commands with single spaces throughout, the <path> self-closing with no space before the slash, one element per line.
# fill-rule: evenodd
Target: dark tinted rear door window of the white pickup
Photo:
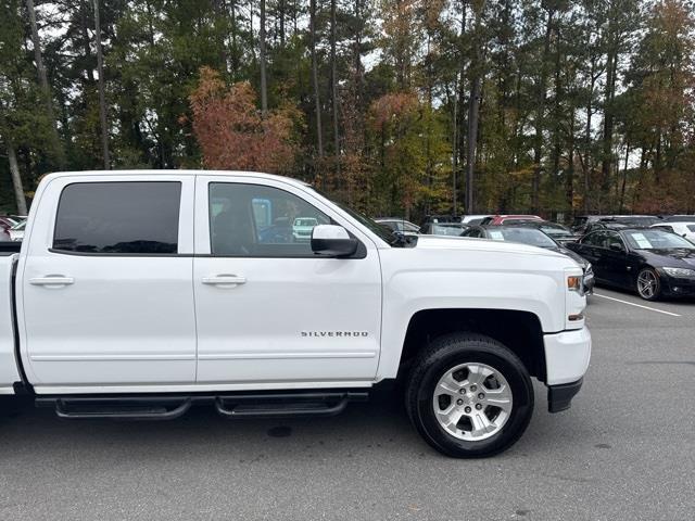
<path fill-rule="evenodd" d="M 63 189 L 53 249 L 100 254 L 178 251 L 181 183 L 76 182 Z"/>

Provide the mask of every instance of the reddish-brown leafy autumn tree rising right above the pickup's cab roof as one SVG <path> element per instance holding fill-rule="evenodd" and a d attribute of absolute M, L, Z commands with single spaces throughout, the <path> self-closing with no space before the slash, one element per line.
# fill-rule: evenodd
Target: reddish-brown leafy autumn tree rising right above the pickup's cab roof
<path fill-rule="evenodd" d="M 227 86 L 210 67 L 201 68 L 189 100 L 206 168 L 281 174 L 294 166 L 299 112 L 293 107 L 268 111 L 263 117 L 251 84 Z"/>

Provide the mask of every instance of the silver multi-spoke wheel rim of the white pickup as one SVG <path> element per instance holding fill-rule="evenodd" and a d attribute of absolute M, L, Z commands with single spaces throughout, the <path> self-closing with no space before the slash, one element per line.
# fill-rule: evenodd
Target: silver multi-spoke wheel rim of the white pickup
<path fill-rule="evenodd" d="M 476 361 L 448 369 L 432 397 L 434 417 L 452 436 L 478 442 L 494 436 L 511 414 L 511 387 L 494 367 Z"/>

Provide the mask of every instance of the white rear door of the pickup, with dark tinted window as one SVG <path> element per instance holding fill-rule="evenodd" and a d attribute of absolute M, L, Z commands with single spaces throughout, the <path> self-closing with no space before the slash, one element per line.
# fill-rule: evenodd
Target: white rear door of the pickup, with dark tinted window
<path fill-rule="evenodd" d="M 193 182 L 167 174 L 50 181 L 21 266 L 33 382 L 193 383 Z"/>

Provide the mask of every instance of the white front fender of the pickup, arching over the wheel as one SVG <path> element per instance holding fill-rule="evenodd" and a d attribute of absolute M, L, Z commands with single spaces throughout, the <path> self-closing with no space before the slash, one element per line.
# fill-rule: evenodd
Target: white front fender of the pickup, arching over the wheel
<path fill-rule="evenodd" d="M 407 267 L 393 258 L 394 253 L 397 255 L 393 251 L 382 255 L 383 320 L 378 379 L 395 378 L 408 323 L 418 312 L 518 310 L 535 315 L 544 332 L 565 329 L 565 272 L 561 267 L 558 269 L 557 258 L 490 257 L 467 252 L 463 266 L 446 266 L 444 258 L 434 255 L 439 252 L 422 251 L 413 255 Z"/>

